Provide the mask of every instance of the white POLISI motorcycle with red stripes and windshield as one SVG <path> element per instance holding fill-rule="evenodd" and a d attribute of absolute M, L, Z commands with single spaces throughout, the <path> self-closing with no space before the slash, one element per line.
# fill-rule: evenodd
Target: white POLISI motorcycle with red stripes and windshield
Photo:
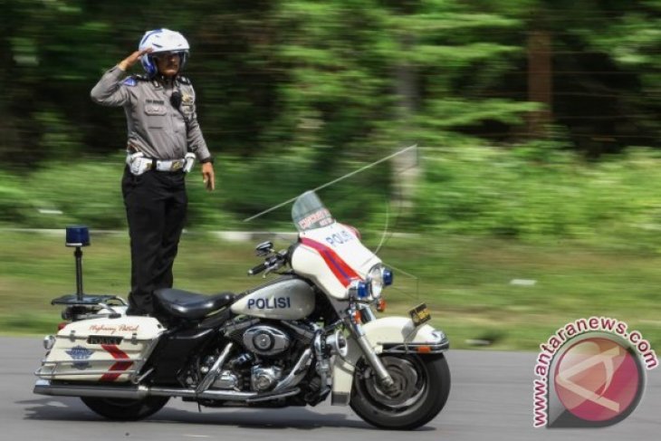
<path fill-rule="evenodd" d="M 445 333 L 426 323 L 424 304 L 410 317 L 376 318 L 393 274 L 314 192 L 296 199 L 292 220 L 296 243 L 278 252 L 259 244 L 263 264 L 248 272 L 277 277 L 239 294 L 158 290 L 154 317 L 126 315 L 115 296 L 82 294 L 74 254 L 78 292 L 53 300 L 67 321 L 44 338 L 34 393 L 80 397 L 119 420 L 148 417 L 176 397 L 287 407 L 330 396 L 375 427 L 425 425 L 450 391 Z"/>

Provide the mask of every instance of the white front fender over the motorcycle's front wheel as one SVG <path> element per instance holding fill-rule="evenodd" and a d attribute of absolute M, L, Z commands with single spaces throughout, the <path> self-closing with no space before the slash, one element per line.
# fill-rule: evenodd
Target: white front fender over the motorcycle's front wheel
<path fill-rule="evenodd" d="M 450 345 L 443 331 L 435 330 L 427 324 L 416 326 L 406 317 L 385 317 L 369 321 L 362 328 L 369 345 L 377 354 L 437 354 L 447 350 Z M 336 356 L 333 363 L 333 405 L 349 404 L 353 371 L 363 355 L 352 335 L 347 339 L 347 347 L 347 356 L 344 359 Z"/>

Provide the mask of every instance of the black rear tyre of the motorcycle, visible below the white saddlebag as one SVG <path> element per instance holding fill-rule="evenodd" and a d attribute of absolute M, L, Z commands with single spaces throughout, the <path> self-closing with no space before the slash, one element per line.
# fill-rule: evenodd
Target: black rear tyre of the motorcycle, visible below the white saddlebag
<path fill-rule="evenodd" d="M 110 419 L 136 421 L 155 414 L 168 402 L 169 397 L 141 399 L 81 397 L 91 410 Z"/>

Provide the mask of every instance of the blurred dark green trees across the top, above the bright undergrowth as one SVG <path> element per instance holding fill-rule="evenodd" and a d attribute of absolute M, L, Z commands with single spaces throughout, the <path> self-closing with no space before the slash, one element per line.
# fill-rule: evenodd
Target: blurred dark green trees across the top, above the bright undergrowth
<path fill-rule="evenodd" d="M 4 168 L 124 149 L 122 111 L 91 103 L 89 91 L 146 30 L 169 27 L 191 43 L 187 75 L 207 142 L 223 159 L 221 202 L 236 216 L 410 142 L 514 144 L 526 114 L 540 110 L 527 88 L 528 37 L 540 30 L 551 40 L 553 121 L 568 128 L 571 147 L 598 156 L 658 147 L 661 134 L 656 0 L 0 5 Z M 545 145 L 560 144 L 568 145 Z M 394 191 L 389 172 L 371 169 L 332 191 L 348 213 L 368 213 Z"/>

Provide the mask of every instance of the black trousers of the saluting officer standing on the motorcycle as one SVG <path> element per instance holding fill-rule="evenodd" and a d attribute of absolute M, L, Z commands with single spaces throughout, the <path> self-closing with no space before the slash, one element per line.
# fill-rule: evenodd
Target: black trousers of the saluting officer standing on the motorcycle
<path fill-rule="evenodd" d="M 172 265 L 186 221 L 185 174 L 150 170 L 134 176 L 124 169 L 121 191 L 129 221 L 130 314 L 152 314 L 152 294 L 171 288 Z"/>

